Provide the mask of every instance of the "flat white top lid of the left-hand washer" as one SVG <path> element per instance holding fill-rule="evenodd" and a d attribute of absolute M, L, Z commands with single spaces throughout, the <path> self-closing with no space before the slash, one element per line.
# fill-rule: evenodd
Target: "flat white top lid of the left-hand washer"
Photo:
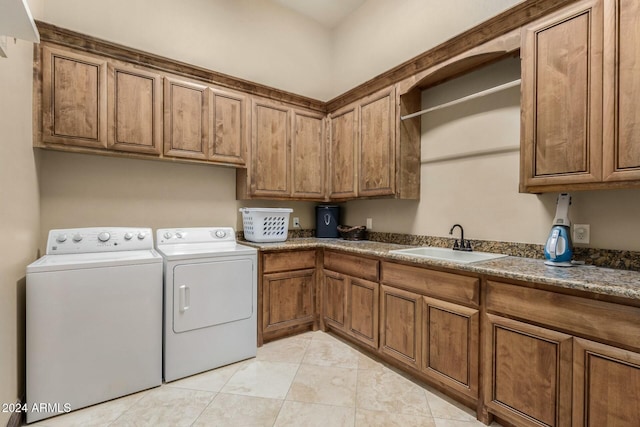
<path fill-rule="evenodd" d="M 37 261 L 29 264 L 27 266 L 27 273 L 152 264 L 161 262 L 162 257 L 153 249 L 142 251 L 45 255 Z"/>

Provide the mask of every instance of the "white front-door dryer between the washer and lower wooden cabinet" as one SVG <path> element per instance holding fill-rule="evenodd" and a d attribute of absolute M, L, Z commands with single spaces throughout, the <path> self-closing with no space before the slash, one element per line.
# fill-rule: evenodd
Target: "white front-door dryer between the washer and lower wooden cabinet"
<path fill-rule="evenodd" d="M 164 257 L 164 380 L 255 357 L 257 258 L 230 227 L 157 230 Z"/>

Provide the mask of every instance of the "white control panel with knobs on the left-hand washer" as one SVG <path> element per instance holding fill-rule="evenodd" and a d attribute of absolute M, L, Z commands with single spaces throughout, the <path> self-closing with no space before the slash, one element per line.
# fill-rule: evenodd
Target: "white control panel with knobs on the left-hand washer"
<path fill-rule="evenodd" d="M 153 249 L 150 228 L 90 227 L 49 231 L 47 255 Z"/>

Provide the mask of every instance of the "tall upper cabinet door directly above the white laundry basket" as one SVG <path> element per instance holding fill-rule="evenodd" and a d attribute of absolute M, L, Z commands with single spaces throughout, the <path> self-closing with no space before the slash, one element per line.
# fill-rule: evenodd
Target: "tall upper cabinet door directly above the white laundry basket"
<path fill-rule="evenodd" d="M 290 109 L 254 99 L 251 115 L 251 194 L 290 194 Z"/>

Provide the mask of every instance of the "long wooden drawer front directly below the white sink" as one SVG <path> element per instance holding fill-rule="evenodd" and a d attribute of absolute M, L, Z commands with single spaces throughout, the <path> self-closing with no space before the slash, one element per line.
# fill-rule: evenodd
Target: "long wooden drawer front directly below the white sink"
<path fill-rule="evenodd" d="M 475 277 L 390 262 L 382 263 L 380 276 L 384 284 L 399 286 L 424 295 L 474 307 L 480 303 L 480 279 Z"/>

